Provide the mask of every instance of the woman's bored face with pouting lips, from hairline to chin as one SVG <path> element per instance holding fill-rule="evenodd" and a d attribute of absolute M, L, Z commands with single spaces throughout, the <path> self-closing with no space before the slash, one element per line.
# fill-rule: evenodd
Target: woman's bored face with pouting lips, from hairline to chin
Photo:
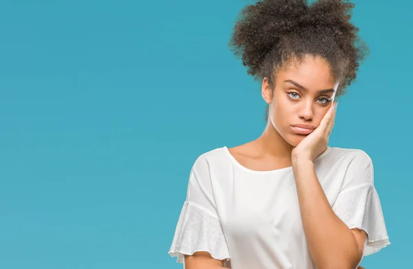
<path fill-rule="evenodd" d="M 299 65 L 277 71 L 275 88 L 265 78 L 262 97 L 269 105 L 268 124 L 291 146 L 309 135 L 331 106 L 335 81 L 321 58 L 306 57 Z"/>

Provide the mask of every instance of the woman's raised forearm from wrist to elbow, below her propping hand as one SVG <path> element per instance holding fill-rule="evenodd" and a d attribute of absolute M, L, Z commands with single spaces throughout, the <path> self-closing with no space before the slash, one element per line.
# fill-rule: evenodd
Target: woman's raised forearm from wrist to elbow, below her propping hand
<path fill-rule="evenodd" d="M 317 268 L 356 268 L 361 259 L 357 241 L 333 212 L 317 179 L 314 163 L 295 160 L 293 171 L 304 233 Z"/>

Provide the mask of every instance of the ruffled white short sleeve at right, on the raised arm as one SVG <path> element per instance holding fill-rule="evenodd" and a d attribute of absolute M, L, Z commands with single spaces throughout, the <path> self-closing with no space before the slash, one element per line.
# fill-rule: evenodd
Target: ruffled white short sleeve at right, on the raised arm
<path fill-rule="evenodd" d="M 351 153 L 343 186 L 332 209 L 350 229 L 359 228 L 367 233 L 363 256 L 372 255 L 390 244 L 379 195 L 374 188 L 372 160 L 366 152 Z"/>

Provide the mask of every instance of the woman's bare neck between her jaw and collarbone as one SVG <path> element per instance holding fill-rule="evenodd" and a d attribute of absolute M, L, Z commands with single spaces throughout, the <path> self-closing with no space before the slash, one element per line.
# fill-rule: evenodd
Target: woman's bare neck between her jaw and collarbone
<path fill-rule="evenodd" d="M 255 140 L 257 149 L 264 155 L 271 155 L 280 159 L 290 159 L 293 146 L 279 135 L 273 124 L 268 121 L 262 135 Z"/>

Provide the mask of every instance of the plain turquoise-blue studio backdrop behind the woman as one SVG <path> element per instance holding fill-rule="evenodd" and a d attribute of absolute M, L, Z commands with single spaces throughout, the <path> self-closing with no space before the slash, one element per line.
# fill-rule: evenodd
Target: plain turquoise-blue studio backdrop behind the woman
<path fill-rule="evenodd" d="M 241 0 L 0 2 L 0 268 L 182 268 L 167 251 L 198 155 L 255 139 L 260 83 L 227 47 Z M 355 1 L 371 54 L 330 146 L 372 157 L 413 268 L 413 2 Z"/>

